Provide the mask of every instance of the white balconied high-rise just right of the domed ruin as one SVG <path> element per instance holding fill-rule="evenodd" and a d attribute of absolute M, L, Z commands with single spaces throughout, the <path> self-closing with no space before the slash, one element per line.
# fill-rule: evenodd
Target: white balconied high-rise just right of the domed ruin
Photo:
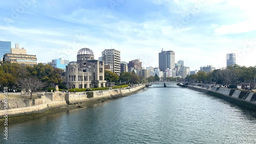
<path fill-rule="evenodd" d="M 105 64 L 113 65 L 113 73 L 120 76 L 120 51 L 115 49 L 106 49 L 101 53 L 101 60 L 105 62 Z"/>

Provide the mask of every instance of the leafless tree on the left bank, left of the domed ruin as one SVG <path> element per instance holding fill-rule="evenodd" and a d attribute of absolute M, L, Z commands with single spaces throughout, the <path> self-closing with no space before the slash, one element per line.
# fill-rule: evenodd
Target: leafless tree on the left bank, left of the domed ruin
<path fill-rule="evenodd" d="M 30 99 L 32 99 L 32 93 L 36 91 L 38 88 L 42 88 L 47 86 L 47 83 L 41 82 L 36 78 L 28 77 L 28 78 L 20 78 L 17 81 L 17 85 L 20 88 L 25 88 L 26 91 L 30 92 Z"/>

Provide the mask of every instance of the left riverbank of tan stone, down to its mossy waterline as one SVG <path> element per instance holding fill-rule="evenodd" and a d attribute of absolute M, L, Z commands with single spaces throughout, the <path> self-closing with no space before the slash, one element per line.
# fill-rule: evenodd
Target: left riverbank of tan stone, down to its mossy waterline
<path fill-rule="evenodd" d="M 82 93 L 67 93 L 65 100 L 63 100 L 63 97 L 61 96 L 62 93 L 57 93 L 57 95 L 61 97 L 52 97 L 51 99 L 58 100 L 58 101 L 52 101 L 49 100 L 45 104 L 35 105 L 35 106 L 28 106 L 23 108 L 14 108 L 14 109 L 8 109 L 8 125 L 14 124 L 18 122 L 25 122 L 29 121 L 31 119 L 40 118 L 47 116 L 49 114 L 55 114 L 59 112 L 64 112 L 76 108 L 82 108 L 82 107 L 88 107 L 92 106 L 94 104 L 103 103 L 109 100 L 115 100 L 118 98 L 126 97 L 128 95 L 137 93 L 138 91 L 145 88 L 145 85 L 139 85 L 133 88 L 129 89 L 112 89 L 112 90 L 106 90 L 106 91 L 93 91 L 93 98 L 87 98 L 87 94 Z M 54 93 L 55 94 L 55 93 Z M 47 96 L 49 98 L 49 95 Z M 43 97 L 44 98 L 44 97 Z M 40 99 L 37 101 L 39 102 Z M 31 100 L 32 101 L 32 100 Z M 46 101 L 46 98 L 40 101 Z M 6 111 L 0 110 L 0 125 L 4 125 L 4 122 L 6 121 L 5 116 Z"/>

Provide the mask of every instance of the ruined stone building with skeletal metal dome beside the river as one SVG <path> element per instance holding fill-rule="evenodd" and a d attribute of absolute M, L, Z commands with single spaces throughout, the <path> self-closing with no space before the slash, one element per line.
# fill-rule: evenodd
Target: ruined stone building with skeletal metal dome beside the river
<path fill-rule="evenodd" d="M 70 89 L 105 87 L 104 61 L 95 60 L 92 50 L 80 49 L 77 61 L 66 66 L 62 80 Z"/>

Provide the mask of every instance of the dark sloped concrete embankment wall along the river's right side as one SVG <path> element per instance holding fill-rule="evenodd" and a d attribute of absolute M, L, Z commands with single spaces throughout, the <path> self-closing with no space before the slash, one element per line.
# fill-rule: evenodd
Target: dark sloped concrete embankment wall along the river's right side
<path fill-rule="evenodd" d="M 205 89 L 200 87 L 188 86 L 188 88 L 209 94 L 214 94 L 215 96 L 225 99 L 227 101 L 256 110 L 256 93 L 254 92 L 228 89 L 222 87 L 213 87 L 211 89 Z"/>

